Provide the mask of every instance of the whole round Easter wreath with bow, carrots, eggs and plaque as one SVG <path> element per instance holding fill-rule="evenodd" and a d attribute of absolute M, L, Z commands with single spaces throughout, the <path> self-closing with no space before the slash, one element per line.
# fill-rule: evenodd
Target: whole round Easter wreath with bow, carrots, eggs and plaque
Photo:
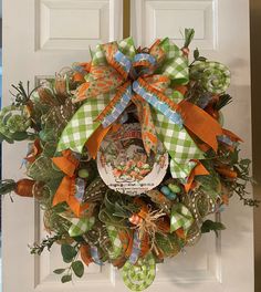
<path fill-rule="evenodd" d="M 112 263 L 133 291 L 148 288 L 156 264 L 225 229 L 206 217 L 238 194 L 244 205 L 249 159 L 223 128 L 229 69 L 168 38 L 136 48 L 132 38 L 97 45 L 30 92 L 13 86 L 1 111 L 1 140 L 29 139 L 29 178 L 4 179 L 0 194 L 34 197 L 50 233 L 31 247 L 61 244 L 62 282 L 84 265 Z"/>

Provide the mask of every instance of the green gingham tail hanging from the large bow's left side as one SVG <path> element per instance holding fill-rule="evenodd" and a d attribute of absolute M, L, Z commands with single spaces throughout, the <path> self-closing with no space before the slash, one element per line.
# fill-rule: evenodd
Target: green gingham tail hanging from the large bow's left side
<path fill-rule="evenodd" d="M 88 98 L 85 104 L 80 107 L 61 135 L 58 145 L 59 152 L 71 149 L 76 153 L 82 153 L 86 140 L 101 125 L 100 122 L 94 121 L 108 104 L 111 96 L 113 96 L 113 94 L 103 94 L 94 98 Z"/>

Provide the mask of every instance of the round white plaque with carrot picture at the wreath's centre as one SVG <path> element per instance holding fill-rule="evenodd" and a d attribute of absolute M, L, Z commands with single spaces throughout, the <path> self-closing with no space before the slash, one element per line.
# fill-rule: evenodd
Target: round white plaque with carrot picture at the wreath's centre
<path fill-rule="evenodd" d="M 102 142 L 97 168 L 104 182 L 116 191 L 130 196 L 158 186 L 168 167 L 168 154 L 158 140 L 157 153 L 145 152 L 139 124 L 124 124 Z"/>

